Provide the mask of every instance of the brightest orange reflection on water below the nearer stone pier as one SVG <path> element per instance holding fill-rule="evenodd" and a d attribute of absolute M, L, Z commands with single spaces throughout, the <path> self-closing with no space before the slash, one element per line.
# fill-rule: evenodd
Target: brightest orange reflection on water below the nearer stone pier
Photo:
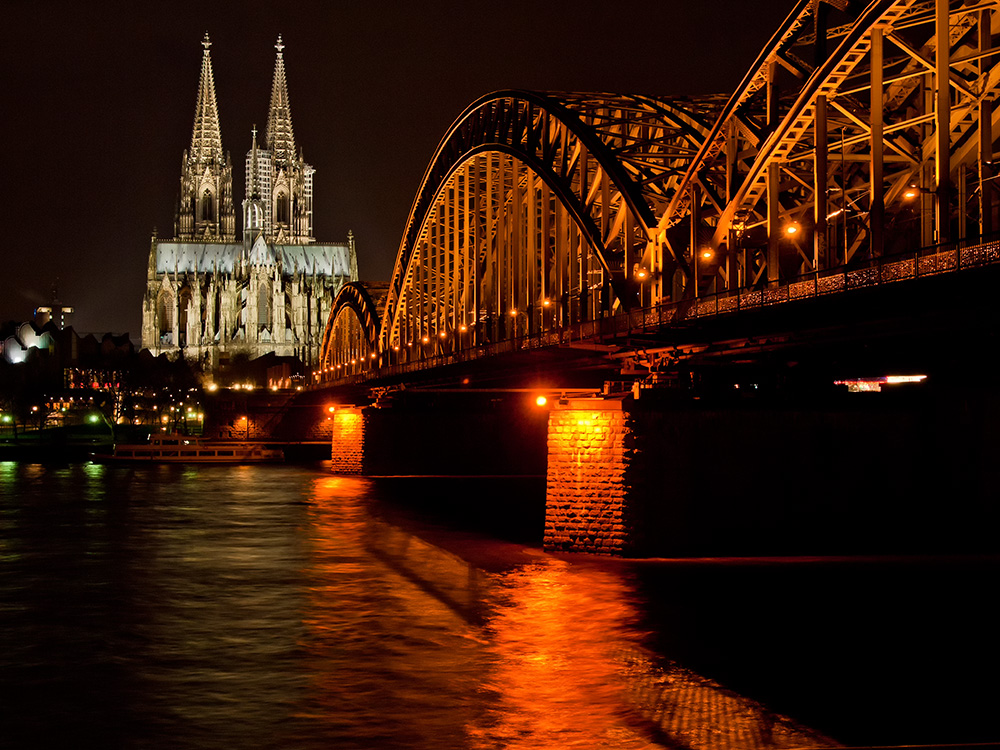
<path fill-rule="evenodd" d="M 648 748 L 624 709 L 620 654 L 637 643 L 620 576 L 548 559 L 504 575 L 486 630 L 491 695 L 477 748 Z"/>

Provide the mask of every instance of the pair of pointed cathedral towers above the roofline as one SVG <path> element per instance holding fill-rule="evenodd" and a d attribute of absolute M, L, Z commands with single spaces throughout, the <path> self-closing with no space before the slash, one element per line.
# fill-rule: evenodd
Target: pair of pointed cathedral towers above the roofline
<path fill-rule="evenodd" d="M 215 95 L 208 33 L 202 40 L 201 75 L 195 106 L 191 148 L 185 152 L 181 174 L 181 200 L 174 234 L 180 240 L 203 239 L 233 242 L 235 215 L 232 201 L 232 166 L 222 150 L 222 131 Z M 244 239 L 264 234 L 268 241 L 310 243 L 312 236 L 313 168 L 295 153 L 295 135 L 285 76 L 285 45 L 275 44 L 277 59 L 271 86 L 264 148 L 253 143 L 247 154 Z"/>

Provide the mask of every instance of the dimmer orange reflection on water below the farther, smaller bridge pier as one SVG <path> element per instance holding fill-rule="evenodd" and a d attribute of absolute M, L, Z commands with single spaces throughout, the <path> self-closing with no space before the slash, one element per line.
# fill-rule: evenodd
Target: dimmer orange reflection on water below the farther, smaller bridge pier
<path fill-rule="evenodd" d="M 463 747 L 480 671 L 475 626 L 456 607 L 468 564 L 369 515 L 369 486 L 313 487 L 296 716 L 331 747 Z"/>

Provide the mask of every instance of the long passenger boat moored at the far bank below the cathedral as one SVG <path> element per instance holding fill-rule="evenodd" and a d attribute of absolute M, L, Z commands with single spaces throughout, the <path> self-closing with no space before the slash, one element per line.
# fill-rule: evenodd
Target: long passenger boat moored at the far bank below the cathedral
<path fill-rule="evenodd" d="M 250 464 L 284 461 L 285 454 L 260 443 L 153 434 L 148 443 L 116 445 L 113 453 L 94 454 L 95 463 Z"/>

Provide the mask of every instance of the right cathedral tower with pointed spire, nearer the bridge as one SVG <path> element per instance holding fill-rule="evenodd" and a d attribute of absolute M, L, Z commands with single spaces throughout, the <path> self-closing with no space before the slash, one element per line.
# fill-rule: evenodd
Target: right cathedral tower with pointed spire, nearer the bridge
<path fill-rule="evenodd" d="M 256 186 L 264 206 L 263 234 L 268 242 L 304 245 L 313 238 L 313 173 L 301 151 L 295 152 L 292 110 L 285 78 L 285 45 L 278 37 L 278 51 L 271 84 L 271 106 L 264 131 L 264 148 L 251 147 L 247 153 L 247 198 L 254 200 L 251 186 Z M 246 210 L 244 210 L 246 213 Z M 244 216 L 244 233 L 247 231 Z M 244 238 L 245 239 L 245 238 Z"/>

